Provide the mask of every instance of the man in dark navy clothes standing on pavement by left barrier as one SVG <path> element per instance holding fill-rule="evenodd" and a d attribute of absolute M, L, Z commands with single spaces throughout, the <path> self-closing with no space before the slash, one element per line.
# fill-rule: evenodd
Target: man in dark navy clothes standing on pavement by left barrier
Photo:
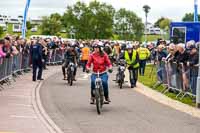
<path fill-rule="evenodd" d="M 39 68 L 37 80 L 44 80 L 42 79 L 42 46 L 40 41 L 34 40 L 33 45 L 30 48 L 30 54 L 32 57 L 32 65 L 33 65 L 33 81 L 36 81 L 36 73 L 37 68 Z"/>

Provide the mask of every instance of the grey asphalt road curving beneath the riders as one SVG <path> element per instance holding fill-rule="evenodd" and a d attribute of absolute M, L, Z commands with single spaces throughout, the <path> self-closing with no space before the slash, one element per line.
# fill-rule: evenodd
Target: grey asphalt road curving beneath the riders
<path fill-rule="evenodd" d="M 64 133 L 200 133 L 200 119 L 159 104 L 127 85 L 120 90 L 110 75 L 111 103 L 97 115 L 89 104 L 90 77 L 79 71 L 71 87 L 58 73 L 40 90 L 42 104 Z"/>

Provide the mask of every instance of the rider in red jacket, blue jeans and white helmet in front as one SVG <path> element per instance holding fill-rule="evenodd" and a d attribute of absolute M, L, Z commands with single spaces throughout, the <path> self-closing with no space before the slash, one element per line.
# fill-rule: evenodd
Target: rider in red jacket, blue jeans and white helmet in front
<path fill-rule="evenodd" d="M 95 95 L 93 94 L 93 90 L 95 89 L 95 79 L 97 76 L 95 73 L 98 73 L 98 72 L 100 73 L 100 78 L 102 79 L 105 101 L 109 103 L 110 99 L 109 99 L 109 91 L 108 91 L 108 74 L 107 74 L 106 69 L 108 68 L 108 71 L 111 73 L 112 65 L 108 58 L 108 55 L 105 52 L 103 52 L 103 50 L 101 49 L 100 43 L 96 43 L 94 45 L 94 52 L 90 55 L 88 63 L 86 65 L 87 72 L 89 72 L 89 69 L 92 64 L 93 64 L 93 74 L 91 75 L 91 102 L 90 103 L 94 104 Z"/>

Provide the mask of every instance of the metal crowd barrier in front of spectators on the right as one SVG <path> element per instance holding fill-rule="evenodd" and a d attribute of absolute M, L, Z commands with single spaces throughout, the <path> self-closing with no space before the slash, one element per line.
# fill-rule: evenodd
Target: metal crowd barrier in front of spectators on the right
<path fill-rule="evenodd" d="M 186 95 L 196 96 L 198 77 L 198 65 L 187 66 L 176 62 L 157 63 L 157 80 L 154 88 L 164 85 L 163 93 L 169 90 L 178 92 L 177 98 L 184 98 Z"/>

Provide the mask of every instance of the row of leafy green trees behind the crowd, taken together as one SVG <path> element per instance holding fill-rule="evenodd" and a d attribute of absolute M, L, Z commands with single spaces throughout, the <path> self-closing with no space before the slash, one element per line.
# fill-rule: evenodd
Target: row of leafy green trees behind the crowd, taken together
<path fill-rule="evenodd" d="M 57 35 L 66 30 L 68 37 L 76 39 L 140 40 L 144 24 L 133 11 L 115 10 L 112 5 L 92 1 L 88 5 L 77 2 L 67 6 L 65 13 L 43 17 L 42 34 Z"/>

